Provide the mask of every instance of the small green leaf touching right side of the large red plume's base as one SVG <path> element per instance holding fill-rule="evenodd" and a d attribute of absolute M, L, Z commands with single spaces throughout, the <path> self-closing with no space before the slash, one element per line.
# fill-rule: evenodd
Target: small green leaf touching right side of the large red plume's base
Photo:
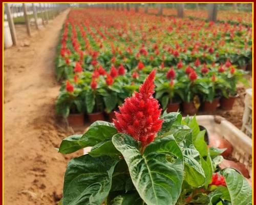
<path fill-rule="evenodd" d="M 162 135 L 165 132 L 168 132 L 170 128 L 181 122 L 182 116 L 178 112 L 170 112 L 163 117 L 163 124 L 161 130 L 158 132 L 158 135 Z"/>

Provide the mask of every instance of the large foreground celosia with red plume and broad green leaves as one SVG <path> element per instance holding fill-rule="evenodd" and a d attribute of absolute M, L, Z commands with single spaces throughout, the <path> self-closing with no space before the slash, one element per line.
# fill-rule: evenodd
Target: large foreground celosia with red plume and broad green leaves
<path fill-rule="evenodd" d="M 92 149 L 69 162 L 59 204 L 251 204 L 248 182 L 218 169 L 218 153 L 210 154 L 195 117 L 160 117 L 154 77 L 125 100 L 114 124 L 96 121 L 62 140 L 63 154 Z"/>

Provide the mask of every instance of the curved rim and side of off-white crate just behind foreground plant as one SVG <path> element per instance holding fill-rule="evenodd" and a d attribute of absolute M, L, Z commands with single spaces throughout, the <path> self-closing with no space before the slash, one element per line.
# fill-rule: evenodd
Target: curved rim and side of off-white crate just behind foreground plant
<path fill-rule="evenodd" d="M 209 135 L 227 139 L 233 147 L 232 157 L 243 163 L 252 174 L 252 140 L 225 118 L 214 115 L 196 116 L 198 124 L 204 126 Z"/>

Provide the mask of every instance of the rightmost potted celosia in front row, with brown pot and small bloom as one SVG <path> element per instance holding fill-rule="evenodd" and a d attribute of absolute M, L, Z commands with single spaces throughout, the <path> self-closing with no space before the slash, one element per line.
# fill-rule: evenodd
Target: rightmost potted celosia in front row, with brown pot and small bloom
<path fill-rule="evenodd" d="M 236 69 L 231 66 L 225 75 L 222 75 L 223 79 L 229 84 L 226 89 L 222 90 L 223 97 L 221 98 L 221 108 L 223 110 L 231 110 L 233 108 L 234 101 L 238 97 L 237 84 L 239 81 L 248 85 L 247 80 L 244 78 L 246 73 L 247 72 L 244 70 Z"/>

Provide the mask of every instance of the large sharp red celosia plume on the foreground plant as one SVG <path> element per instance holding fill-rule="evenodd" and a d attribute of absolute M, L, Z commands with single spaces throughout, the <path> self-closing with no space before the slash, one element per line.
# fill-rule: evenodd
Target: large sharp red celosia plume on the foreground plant
<path fill-rule="evenodd" d="M 153 70 L 140 86 L 139 93 L 126 98 L 120 113 L 115 112 L 114 124 L 118 132 L 131 135 L 141 141 L 142 146 L 152 142 L 156 133 L 161 129 L 163 119 L 160 119 L 161 109 L 153 97 L 156 70 Z"/>

